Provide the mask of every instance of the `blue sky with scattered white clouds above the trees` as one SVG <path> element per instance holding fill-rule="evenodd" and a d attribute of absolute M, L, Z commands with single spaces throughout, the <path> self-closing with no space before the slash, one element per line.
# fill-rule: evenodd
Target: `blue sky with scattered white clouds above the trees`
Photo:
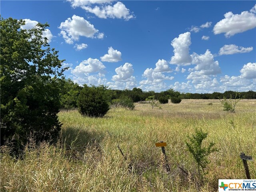
<path fill-rule="evenodd" d="M 66 78 L 111 89 L 256 90 L 255 1 L 12 1 L 3 18 L 43 36 Z"/>

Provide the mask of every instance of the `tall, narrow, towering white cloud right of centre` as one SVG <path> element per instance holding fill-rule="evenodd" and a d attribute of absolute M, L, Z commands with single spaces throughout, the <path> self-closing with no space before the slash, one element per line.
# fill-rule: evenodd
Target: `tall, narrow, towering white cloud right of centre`
<path fill-rule="evenodd" d="M 190 32 L 180 34 L 178 38 L 172 40 L 174 56 L 172 56 L 170 64 L 190 65 L 192 58 L 189 54 L 189 46 L 191 45 Z"/>

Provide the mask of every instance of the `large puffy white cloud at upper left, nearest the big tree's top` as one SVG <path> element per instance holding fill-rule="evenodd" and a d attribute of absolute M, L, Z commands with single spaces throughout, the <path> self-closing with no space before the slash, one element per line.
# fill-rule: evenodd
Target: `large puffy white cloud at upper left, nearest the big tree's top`
<path fill-rule="evenodd" d="M 68 44 L 73 44 L 74 41 L 78 41 L 80 36 L 102 38 L 102 33 L 99 33 L 90 22 L 76 15 L 73 15 L 72 18 L 68 18 L 65 22 L 61 22 L 58 28 L 60 28 L 60 34 Z"/>

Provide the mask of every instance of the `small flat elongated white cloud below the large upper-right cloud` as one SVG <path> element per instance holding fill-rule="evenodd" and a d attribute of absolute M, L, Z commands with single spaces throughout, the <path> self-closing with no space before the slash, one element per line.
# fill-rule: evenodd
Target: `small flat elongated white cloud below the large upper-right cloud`
<path fill-rule="evenodd" d="M 252 47 L 238 47 L 237 45 L 231 44 L 231 45 L 224 45 L 222 48 L 220 48 L 219 54 L 220 55 L 232 55 L 236 53 L 247 53 L 252 51 Z"/>

